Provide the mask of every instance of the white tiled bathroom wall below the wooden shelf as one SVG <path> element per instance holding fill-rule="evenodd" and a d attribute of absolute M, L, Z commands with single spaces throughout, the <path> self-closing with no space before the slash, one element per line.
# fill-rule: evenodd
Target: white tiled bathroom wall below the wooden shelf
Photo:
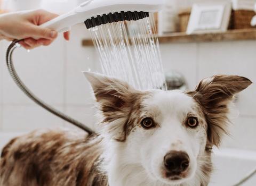
<path fill-rule="evenodd" d="M 53 45 L 29 53 L 17 49 L 14 63 L 21 79 L 46 103 L 93 126 L 95 108 L 81 71 L 100 68 L 94 48 L 81 45 L 88 36 L 84 26 L 76 26 L 69 42 L 59 37 Z M 39 128 L 70 127 L 35 105 L 15 86 L 5 66 L 6 46 L 7 42 L 0 42 L 0 148 L 10 136 Z M 182 73 L 189 88 L 194 88 L 202 78 L 219 73 L 244 75 L 256 82 L 255 47 L 256 41 L 164 44 L 161 52 L 164 69 Z M 236 105 L 240 115 L 223 147 L 256 150 L 255 91 L 253 85 L 239 95 Z"/>

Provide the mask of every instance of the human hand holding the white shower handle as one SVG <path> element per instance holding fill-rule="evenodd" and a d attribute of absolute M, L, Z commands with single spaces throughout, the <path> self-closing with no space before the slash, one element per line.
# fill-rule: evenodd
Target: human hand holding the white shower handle
<path fill-rule="evenodd" d="M 0 15 L 0 38 L 10 41 L 25 39 L 20 41 L 20 44 L 26 49 L 33 49 L 41 45 L 48 46 L 57 38 L 58 32 L 38 26 L 57 16 L 57 14 L 44 10 Z M 63 33 L 63 36 L 66 40 L 69 40 L 69 32 Z"/>

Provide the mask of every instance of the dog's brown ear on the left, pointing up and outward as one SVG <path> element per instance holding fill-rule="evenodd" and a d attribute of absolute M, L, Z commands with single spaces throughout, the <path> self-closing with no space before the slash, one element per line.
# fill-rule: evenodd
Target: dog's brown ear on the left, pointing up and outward
<path fill-rule="evenodd" d="M 102 124 L 108 124 L 118 119 L 126 119 L 122 131 L 119 131 L 119 126 L 115 125 L 108 128 L 111 131 L 110 133 L 116 134 L 113 138 L 119 142 L 124 142 L 134 128 L 134 120 L 140 114 L 141 101 L 149 96 L 149 92 L 137 91 L 126 82 L 115 78 L 87 78 L 91 81 L 95 98 L 99 103 L 100 115 L 103 115 Z"/>

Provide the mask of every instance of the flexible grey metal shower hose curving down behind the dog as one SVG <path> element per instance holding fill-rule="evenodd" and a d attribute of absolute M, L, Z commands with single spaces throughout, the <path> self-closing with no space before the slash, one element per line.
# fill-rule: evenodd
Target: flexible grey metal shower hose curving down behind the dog
<path fill-rule="evenodd" d="M 17 44 L 20 42 L 21 40 L 13 40 L 12 43 L 9 45 L 9 47 L 7 48 L 7 52 L 6 52 L 6 63 L 7 63 L 7 67 L 9 70 L 9 73 L 12 77 L 12 79 L 14 80 L 14 82 L 17 84 L 17 86 L 30 98 L 32 99 L 36 104 L 38 104 L 39 106 L 43 107 L 44 109 L 46 109 L 47 111 L 49 111 L 50 113 L 60 117 L 61 119 L 77 126 L 78 128 L 86 131 L 87 133 L 89 133 L 89 135 L 95 133 L 93 130 L 91 130 L 90 128 L 88 128 L 87 126 L 85 126 L 83 123 L 78 122 L 76 120 L 74 120 L 73 118 L 67 116 L 66 114 L 61 113 L 60 111 L 58 111 L 57 109 L 51 107 L 50 105 L 44 103 L 41 99 L 37 98 L 26 86 L 25 84 L 21 81 L 21 79 L 19 78 L 19 75 L 17 74 L 14 65 L 13 65 L 13 61 L 12 61 L 12 54 L 15 48 L 17 48 Z M 248 175 L 246 175 L 243 179 L 241 179 L 241 181 L 239 181 L 238 183 L 236 183 L 233 186 L 239 186 L 242 185 L 243 183 L 245 183 L 246 181 L 250 180 L 254 175 L 256 174 L 256 168 L 255 170 L 253 170 L 252 172 L 250 172 Z"/>

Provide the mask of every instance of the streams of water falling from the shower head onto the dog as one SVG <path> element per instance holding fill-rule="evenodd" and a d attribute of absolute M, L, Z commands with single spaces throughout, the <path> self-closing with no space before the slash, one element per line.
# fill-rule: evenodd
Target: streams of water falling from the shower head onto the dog
<path fill-rule="evenodd" d="M 90 29 L 102 72 L 140 90 L 166 89 L 154 15 Z"/>

